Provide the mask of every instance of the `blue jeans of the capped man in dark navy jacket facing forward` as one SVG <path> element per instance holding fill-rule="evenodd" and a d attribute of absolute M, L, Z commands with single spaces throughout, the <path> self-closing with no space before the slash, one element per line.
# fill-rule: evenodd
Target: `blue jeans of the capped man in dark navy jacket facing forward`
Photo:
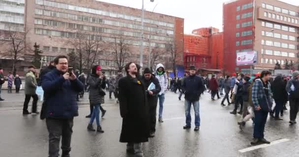
<path fill-rule="evenodd" d="M 195 112 L 195 126 L 200 126 L 199 101 L 189 102 L 187 100 L 185 100 L 186 125 L 191 126 L 190 109 L 192 104 Z"/>

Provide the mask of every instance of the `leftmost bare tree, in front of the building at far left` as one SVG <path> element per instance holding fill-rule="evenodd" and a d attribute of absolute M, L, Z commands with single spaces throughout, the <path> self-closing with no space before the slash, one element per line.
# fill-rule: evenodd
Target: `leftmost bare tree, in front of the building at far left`
<path fill-rule="evenodd" d="M 13 27 L 5 31 L 9 37 L 8 44 L 7 42 L 1 42 L 0 46 L 5 44 L 8 45 L 8 50 L 2 54 L 2 57 L 6 59 L 12 59 L 12 72 L 13 75 L 16 74 L 16 63 L 24 58 L 26 50 L 29 48 L 28 43 L 26 43 L 26 36 L 29 31 L 21 32 L 13 30 Z"/>

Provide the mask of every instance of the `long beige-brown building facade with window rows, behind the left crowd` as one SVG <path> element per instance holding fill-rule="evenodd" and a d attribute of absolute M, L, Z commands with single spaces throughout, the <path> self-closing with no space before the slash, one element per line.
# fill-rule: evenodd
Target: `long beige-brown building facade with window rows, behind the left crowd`
<path fill-rule="evenodd" d="M 179 53 L 177 64 L 183 64 L 184 20 L 178 17 L 145 11 L 142 28 L 140 9 L 96 0 L 0 0 L 0 4 L 1 32 L 11 27 L 26 32 L 26 42 L 31 49 L 35 42 L 40 45 L 46 62 L 59 54 L 78 51 L 74 43 L 82 35 L 84 40 L 99 40 L 105 45 L 96 63 L 114 75 L 118 68 L 110 44 L 123 40 L 131 53 L 128 61 L 139 63 L 144 29 L 144 66 L 148 65 L 149 51 L 157 49 L 164 52 L 161 62 L 169 63 L 167 48 L 174 45 Z M 1 33 L 0 39 L 4 38 L 7 36 Z"/>

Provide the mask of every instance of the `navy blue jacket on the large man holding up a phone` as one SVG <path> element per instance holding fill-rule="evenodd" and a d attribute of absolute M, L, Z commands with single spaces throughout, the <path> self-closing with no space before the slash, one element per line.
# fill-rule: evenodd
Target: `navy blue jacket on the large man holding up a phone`
<path fill-rule="evenodd" d="M 76 78 L 68 80 L 57 69 L 43 77 L 42 88 L 46 100 L 46 118 L 67 119 L 78 116 L 76 95 L 83 91 L 83 83 Z"/>

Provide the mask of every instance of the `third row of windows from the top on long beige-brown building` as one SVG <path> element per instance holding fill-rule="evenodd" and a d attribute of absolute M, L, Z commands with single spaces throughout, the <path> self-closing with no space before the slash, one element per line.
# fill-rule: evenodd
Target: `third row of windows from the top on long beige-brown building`
<path fill-rule="evenodd" d="M 122 30 L 96 27 L 96 26 L 86 26 L 86 25 L 65 23 L 65 22 L 54 21 L 54 20 L 34 19 L 34 24 L 47 25 L 47 26 L 58 26 L 58 27 L 64 27 L 64 28 L 70 28 L 70 29 L 94 31 L 94 32 L 122 34 L 122 35 L 126 35 L 126 36 L 138 37 L 138 38 L 141 37 L 141 33 L 139 33 L 139 32 L 122 31 Z M 146 35 L 146 38 L 147 39 L 154 39 L 154 40 L 173 41 L 172 38 L 157 36 L 157 35 Z"/>

